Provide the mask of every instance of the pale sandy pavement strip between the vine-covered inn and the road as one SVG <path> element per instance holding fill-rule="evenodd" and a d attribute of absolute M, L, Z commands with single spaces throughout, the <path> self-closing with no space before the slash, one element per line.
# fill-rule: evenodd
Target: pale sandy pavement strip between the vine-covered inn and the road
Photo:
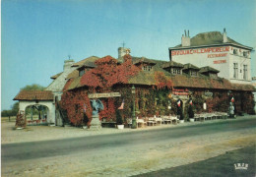
<path fill-rule="evenodd" d="M 237 121 L 241 119 L 254 119 L 255 115 L 247 115 L 236 117 L 236 119 L 218 119 L 218 120 L 208 120 L 204 122 L 185 122 L 183 124 L 177 125 L 159 125 L 159 126 L 147 126 L 145 128 L 125 128 L 124 130 L 118 130 L 115 128 L 102 128 L 99 131 L 90 131 L 82 128 L 76 127 L 50 127 L 50 126 L 28 126 L 23 130 L 15 130 L 14 122 L 2 122 L 2 144 L 12 144 L 12 143 L 25 143 L 25 142 L 38 142 L 38 141 L 48 141 L 48 140 L 58 140 L 58 139 L 68 139 L 68 138 L 79 138 L 88 136 L 98 136 L 107 134 L 118 134 L 127 132 L 138 132 L 138 131 L 151 131 L 165 128 L 175 128 L 183 126 L 193 126 L 193 125 L 204 125 L 211 124 L 214 122 L 222 121 Z"/>

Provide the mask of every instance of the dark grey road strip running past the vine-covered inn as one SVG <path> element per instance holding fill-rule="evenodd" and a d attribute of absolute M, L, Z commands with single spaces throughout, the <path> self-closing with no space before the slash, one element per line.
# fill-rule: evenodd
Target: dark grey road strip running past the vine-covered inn
<path fill-rule="evenodd" d="M 17 162 L 27 159 L 52 157 L 83 151 L 90 152 L 90 150 L 93 152 L 103 148 L 132 148 L 133 146 L 145 145 L 150 142 L 158 143 L 165 140 L 179 139 L 181 137 L 252 129 L 255 128 L 255 125 L 256 119 L 241 119 L 115 135 L 2 145 L 2 165 L 13 161 Z"/>

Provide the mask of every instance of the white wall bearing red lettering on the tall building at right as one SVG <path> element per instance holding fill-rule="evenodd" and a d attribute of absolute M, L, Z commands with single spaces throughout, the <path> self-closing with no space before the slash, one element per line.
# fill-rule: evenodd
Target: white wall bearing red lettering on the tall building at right
<path fill-rule="evenodd" d="M 207 49 L 210 49 L 210 51 Z M 239 51 L 238 55 L 233 55 L 233 49 Z M 218 51 L 216 51 L 218 50 Z M 177 50 L 175 50 L 177 51 Z M 250 54 L 248 58 L 243 57 L 245 49 L 239 49 L 231 46 L 206 47 L 198 49 L 182 49 L 179 53 L 174 53 L 171 60 L 187 64 L 191 63 L 197 67 L 210 66 L 220 71 L 219 77 L 225 78 L 232 83 L 250 84 L 251 81 L 251 65 Z M 238 63 L 238 79 L 233 79 L 233 62 Z M 243 80 L 243 65 L 247 65 L 248 80 Z M 240 73 L 240 69 L 242 73 Z"/>

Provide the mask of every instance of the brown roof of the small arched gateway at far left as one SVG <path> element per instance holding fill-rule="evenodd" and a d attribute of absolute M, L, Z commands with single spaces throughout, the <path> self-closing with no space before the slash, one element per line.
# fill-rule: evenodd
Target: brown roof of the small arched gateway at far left
<path fill-rule="evenodd" d="M 21 90 L 14 100 L 53 100 L 51 90 Z"/>

